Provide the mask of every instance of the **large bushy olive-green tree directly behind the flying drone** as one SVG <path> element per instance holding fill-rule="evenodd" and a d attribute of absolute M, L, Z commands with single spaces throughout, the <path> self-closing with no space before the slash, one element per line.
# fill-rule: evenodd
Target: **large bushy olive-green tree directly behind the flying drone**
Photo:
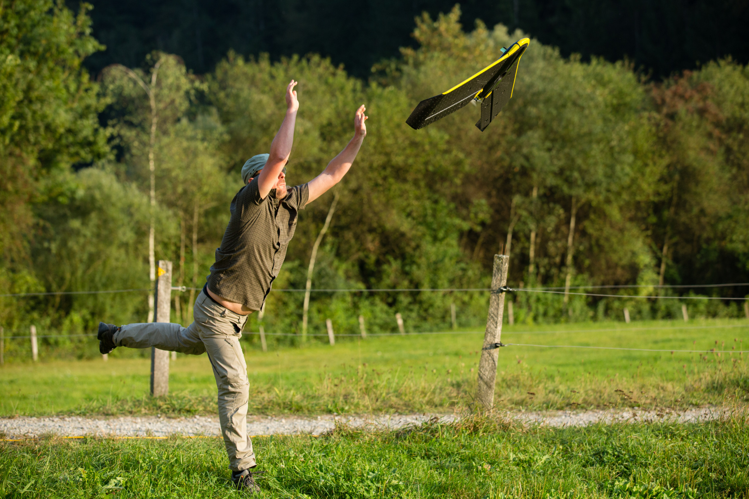
<path fill-rule="evenodd" d="M 524 36 L 510 36 L 501 25 L 488 31 L 479 24 L 463 33 L 459 14 L 456 8 L 436 21 L 417 19 L 414 36 L 421 47 L 404 50 L 398 77 L 408 94 L 424 95 L 432 82 L 448 88 L 453 74 L 488 64 L 501 46 Z M 640 229 L 641 204 L 658 199 L 660 189 L 646 91 L 625 64 L 583 64 L 561 58 L 551 47 L 532 45 L 498 126 L 480 133 L 465 123 L 467 111 L 437 124 L 450 133 L 453 147 L 466 152 L 471 175 L 482 179 L 467 178 L 459 206 L 468 211 L 468 202 L 485 199 L 491 207 L 487 223 L 467 232 L 464 250 L 488 261 L 506 242 L 514 203 L 520 219 L 512 241 L 513 282 L 558 285 L 565 256 L 573 251 L 577 271 L 592 275 L 595 283 L 639 283 L 652 274 L 647 232 Z M 476 145 L 467 148 L 467 143 Z M 562 241 L 574 203 L 579 206 L 575 241 L 568 247 Z M 532 231 L 536 247 L 530 260 Z M 529 265 L 533 271 L 525 273 Z"/>

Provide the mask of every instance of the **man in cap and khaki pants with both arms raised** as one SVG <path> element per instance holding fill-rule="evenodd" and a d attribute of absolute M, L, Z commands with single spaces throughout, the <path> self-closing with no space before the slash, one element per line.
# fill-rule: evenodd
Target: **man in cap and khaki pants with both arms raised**
<path fill-rule="evenodd" d="M 255 468 L 255 453 L 246 431 L 249 381 L 239 342 L 242 328 L 247 316 L 261 309 L 281 270 L 298 211 L 341 181 L 367 134 L 365 107 L 360 106 L 354 118 L 354 138 L 344 150 L 312 181 L 288 189 L 285 166 L 299 109 L 296 85 L 291 80 L 286 88 L 286 116 L 270 153 L 250 158 L 242 168 L 244 186 L 231 201 L 231 217 L 221 247 L 216 249 L 216 262 L 195 300 L 192 324 L 99 324 L 103 354 L 118 346 L 156 347 L 194 355 L 207 352 L 219 389 L 219 420 L 231 480 L 250 492 L 260 489 L 250 471 Z"/>

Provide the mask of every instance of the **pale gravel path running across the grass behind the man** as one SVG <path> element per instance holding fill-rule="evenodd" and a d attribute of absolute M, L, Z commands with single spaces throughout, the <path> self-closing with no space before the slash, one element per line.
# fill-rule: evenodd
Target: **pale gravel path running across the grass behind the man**
<path fill-rule="evenodd" d="M 616 423 L 667 420 L 676 423 L 694 423 L 725 417 L 721 408 L 694 408 L 686 411 L 544 411 L 507 412 L 507 416 L 526 424 L 548 426 L 585 426 L 591 423 Z M 449 422 L 456 419 L 449 414 L 410 414 L 394 416 L 318 416 L 257 417 L 247 418 L 250 435 L 321 435 L 329 432 L 336 421 L 356 427 L 398 429 L 421 424 L 433 417 Z M 115 417 L 97 419 L 89 417 L 13 417 L 0 418 L 0 438 L 35 438 L 40 435 L 77 437 L 83 435 L 106 437 L 166 437 L 169 435 L 213 436 L 220 435 L 219 420 L 215 417 Z"/>

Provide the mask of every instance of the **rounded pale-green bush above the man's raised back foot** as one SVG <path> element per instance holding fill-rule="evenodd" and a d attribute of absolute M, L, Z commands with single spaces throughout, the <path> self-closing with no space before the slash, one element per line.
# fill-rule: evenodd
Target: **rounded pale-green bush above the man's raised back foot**
<path fill-rule="evenodd" d="M 41 228 L 32 256 L 44 288 L 148 288 L 144 262 L 132 258 L 145 252 L 146 196 L 100 169 L 67 175 L 49 186 L 62 184 L 67 191 L 38 206 Z M 69 331 L 77 329 L 73 321 L 88 324 L 101 316 L 137 321 L 143 313 L 137 298 L 133 293 L 57 295 L 50 305 L 63 319 L 61 329 Z"/>

